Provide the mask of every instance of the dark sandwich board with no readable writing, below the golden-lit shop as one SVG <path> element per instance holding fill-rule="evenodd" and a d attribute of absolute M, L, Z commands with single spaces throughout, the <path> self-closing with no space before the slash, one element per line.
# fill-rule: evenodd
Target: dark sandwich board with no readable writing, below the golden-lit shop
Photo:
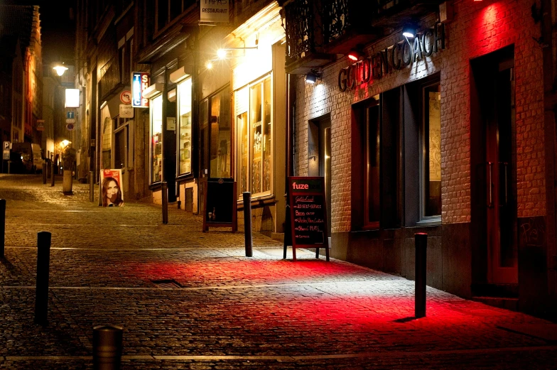
<path fill-rule="evenodd" d="M 238 229 L 236 183 L 232 178 L 209 178 L 205 186 L 203 232 L 209 227 Z"/>

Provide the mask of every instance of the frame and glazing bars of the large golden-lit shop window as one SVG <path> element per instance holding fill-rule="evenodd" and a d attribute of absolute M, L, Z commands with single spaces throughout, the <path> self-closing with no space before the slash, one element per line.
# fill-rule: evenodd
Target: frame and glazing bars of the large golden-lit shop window
<path fill-rule="evenodd" d="M 254 175 L 254 170 L 253 170 L 253 156 L 254 156 L 254 135 L 253 135 L 253 128 L 252 128 L 252 88 L 255 87 L 256 85 L 260 84 L 261 85 L 261 97 L 264 97 L 265 94 L 265 85 L 264 82 L 266 79 L 269 79 L 269 84 L 270 84 L 270 92 L 269 92 L 269 99 L 271 100 L 270 102 L 270 123 L 271 123 L 271 129 L 270 129 L 270 133 L 269 135 L 271 136 L 270 138 L 270 143 L 271 143 L 271 148 L 269 148 L 269 190 L 265 190 L 263 192 L 257 192 L 257 193 L 252 193 L 252 199 L 262 199 L 262 198 L 266 198 L 266 197 L 272 197 L 272 195 L 274 194 L 274 94 L 273 94 L 273 88 L 274 88 L 274 80 L 273 80 L 273 72 L 269 72 L 266 75 L 263 75 L 259 78 L 257 78 L 256 80 L 253 80 L 252 82 L 249 82 L 249 84 L 244 85 L 242 87 L 239 87 L 238 89 L 234 90 L 234 102 L 237 99 L 237 94 L 239 92 L 242 92 L 242 90 L 247 89 L 247 106 L 246 106 L 246 111 L 237 111 L 237 105 L 234 104 L 234 130 L 237 133 L 236 135 L 236 148 L 234 149 L 234 153 L 236 154 L 236 158 L 234 158 L 234 173 L 236 174 L 235 178 L 239 179 L 239 174 L 241 173 L 241 160 L 242 160 L 242 135 L 241 135 L 241 128 L 238 126 L 238 121 L 237 121 L 237 117 L 240 114 L 243 114 L 244 112 L 247 113 L 247 129 L 248 129 L 248 140 L 247 140 L 247 146 L 248 146 L 248 166 L 247 166 L 247 191 L 248 192 L 252 192 L 252 187 L 253 187 L 253 175 Z M 263 120 L 264 120 L 264 100 L 261 100 L 261 125 L 263 125 Z M 231 123 L 232 124 L 232 123 Z M 264 128 L 261 127 L 261 131 L 263 132 Z M 261 144 L 262 145 L 262 144 Z M 261 160 L 263 160 L 263 149 L 261 148 Z M 261 181 L 263 181 L 263 179 L 261 179 Z M 243 198 L 242 198 L 242 186 L 238 185 L 237 186 L 238 189 L 238 197 L 237 200 L 243 202 Z"/>

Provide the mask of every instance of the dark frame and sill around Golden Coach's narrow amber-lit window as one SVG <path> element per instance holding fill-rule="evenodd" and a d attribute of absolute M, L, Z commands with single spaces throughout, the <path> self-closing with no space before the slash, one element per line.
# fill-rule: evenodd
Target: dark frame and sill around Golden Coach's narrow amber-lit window
<path fill-rule="evenodd" d="M 421 92 L 421 124 L 420 124 L 420 143 L 419 143 L 419 152 L 420 152 L 420 184 L 419 184 L 419 217 L 417 224 L 420 226 L 429 226 L 429 225 L 439 225 L 441 224 L 441 214 L 434 214 L 431 216 L 426 216 L 426 202 L 428 199 L 428 195 L 426 192 L 429 190 L 429 185 L 427 184 L 428 180 L 428 173 L 429 173 L 429 108 L 426 107 L 428 104 L 428 89 L 431 87 L 439 87 L 439 94 L 440 94 L 440 80 L 436 79 L 431 82 L 424 83 L 420 87 Z M 426 134 L 428 135 L 426 138 Z M 442 170 L 443 168 L 441 168 Z M 440 188 L 442 189 L 442 188 Z"/>

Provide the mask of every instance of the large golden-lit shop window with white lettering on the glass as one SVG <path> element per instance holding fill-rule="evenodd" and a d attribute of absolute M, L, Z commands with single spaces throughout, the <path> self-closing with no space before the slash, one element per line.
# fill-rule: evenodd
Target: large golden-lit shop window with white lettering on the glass
<path fill-rule="evenodd" d="M 236 92 L 239 197 L 271 194 L 271 77 Z"/>

